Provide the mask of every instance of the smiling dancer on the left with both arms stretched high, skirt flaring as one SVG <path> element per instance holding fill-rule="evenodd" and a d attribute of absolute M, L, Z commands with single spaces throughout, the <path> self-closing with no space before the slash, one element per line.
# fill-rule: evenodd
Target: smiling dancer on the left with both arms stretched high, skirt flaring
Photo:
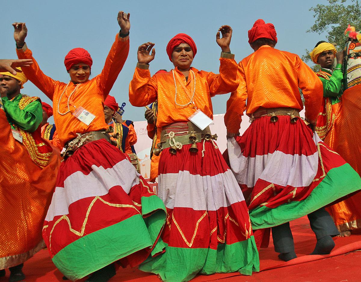
<path fill-rule="evenodd" d="M 118 13 L 116 34 L 101 73 L 89 80 L 92 58 L 75 48 L 64 64 L 69 83 L 46 76 L 25 44 L 25 23 L 14 23 L 24 70 L 55 105 L 54 120 L 65 160 L 44 222 L 43 238 L 57 268 L 69 279 L 108 281 L 114 261 L 136 266 L 152 252 L 165 222 L 164 205 L 110 144 L 103 107 L 129 52 L 129 14 Z"/>

